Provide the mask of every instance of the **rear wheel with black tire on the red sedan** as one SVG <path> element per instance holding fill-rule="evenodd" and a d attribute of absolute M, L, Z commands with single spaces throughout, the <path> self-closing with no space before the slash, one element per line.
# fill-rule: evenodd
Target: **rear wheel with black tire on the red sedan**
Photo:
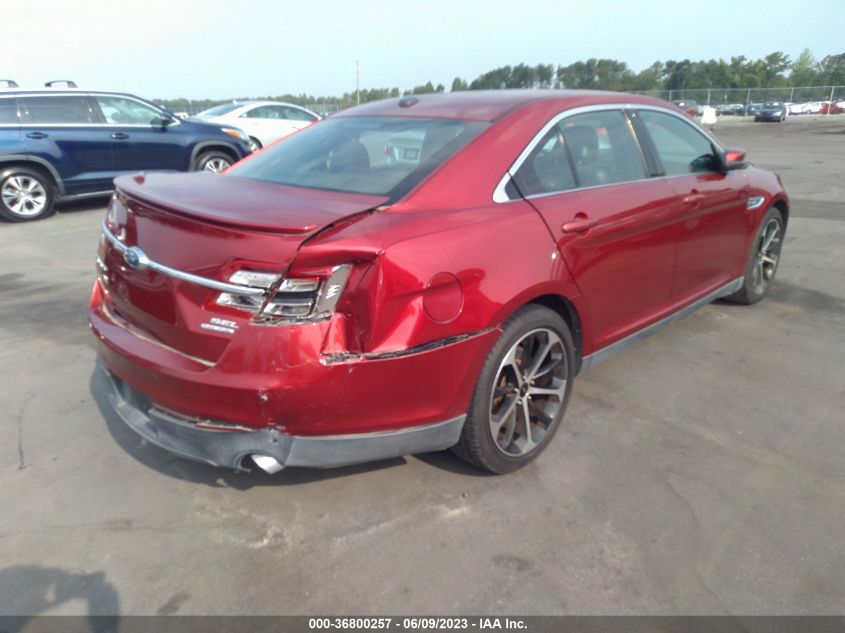
<path fill-rule="evenodd" d="M 549 351 L 544 356 L 541 350 L 546 343 Z M 575 376 L 574 350 L 569 327 L 553 310 L 532 304 L 511 316 L 481 369 L 461 439 L 453 452 L 482 470 L 500 475 L 536 459 L 554 437 L 566 411 Z M 524 379 L 524 374 L 517 378 L 519 368 L 530 373 L 526 364 L 531 365 L 535 358 L 539 360 L 533 379 L 523 382 L 520 378 Z M 544 367 L 547 369 L 541 373 Z M 521 387 L 509 384 L 509 376 Z M 540 395 L 532 392 L 535 389 L 557 391 L 558 395 Z M 494 437 L 492 425 L 497 413 L 503 420 L 511 418 L 505 411 L 513 412 L 513 421 L 502 422 Z M 530 429 L 527 441 L 521 422 L 526 419 L 526 411 Z M 536 426 L 530 421 L 532 412 L 537 416 Z"/>

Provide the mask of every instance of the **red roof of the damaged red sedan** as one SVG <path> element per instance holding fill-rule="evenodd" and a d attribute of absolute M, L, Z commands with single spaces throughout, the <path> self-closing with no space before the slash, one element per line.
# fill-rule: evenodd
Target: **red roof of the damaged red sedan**
<path fill-rule="evenodd" d="M 406 95 L 375 101 L 343 110 L 332 118 L 406 116 L 495 121 L 513 110 L 543 101 L 553 101 L 561 110 L 587 103 L 649 103 L 673 107 L 666 101 L 653 97 L 602 90 L 467 90 Z"/>

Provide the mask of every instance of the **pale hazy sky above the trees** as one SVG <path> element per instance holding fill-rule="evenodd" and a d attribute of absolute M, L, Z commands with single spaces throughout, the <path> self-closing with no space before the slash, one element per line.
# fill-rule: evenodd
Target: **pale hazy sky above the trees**
<path fill-rule="evenodd" d="M 447 89 L 505 64 L 845 52 L 842 0 L 0 0 L 0 78 L 148 98 Z"/>

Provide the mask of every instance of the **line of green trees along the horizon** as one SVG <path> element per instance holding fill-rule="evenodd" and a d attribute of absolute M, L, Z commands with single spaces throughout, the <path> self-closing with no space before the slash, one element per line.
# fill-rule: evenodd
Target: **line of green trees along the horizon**
<path fill-rule="evenodd" d="M 845 53 L 816 59 L 805 48 L 791 60 L 781 51 L 760 59 L 743 55 L 729 60 L 710 59 L 691 61 L 657 61 L 648 68 L 634 72 L 628 64 L 615 59 L 591 58 L 567 66 L 554 64 L 517 64 L 489 70 L 472 81 L 455 77 L 450 90 L 488 90 L 502 88 L 575 88 L 644 92 L 686 90 L 695 88 L 788 88 L 790 86 L 845 85 Z M 445 92 L 443 84 L 426 82 L 400 91 L 393 88 L 367 88 L 345 92 L 340 96 L 284 94 L 262 97 L 272 101 L 286 101 L 305 107 L 319 104 L 355 104 L 398 97 L 400 95 Z M 221 103 L 212 99 L 156 100 L 174 111 L 198 111 Z"/>

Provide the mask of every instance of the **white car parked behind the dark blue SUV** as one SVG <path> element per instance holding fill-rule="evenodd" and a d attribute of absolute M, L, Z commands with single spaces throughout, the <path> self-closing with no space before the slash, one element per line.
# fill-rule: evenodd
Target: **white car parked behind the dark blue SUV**
<path fill-rule="evenodd" d="M 310 110 L 280 101 L 224 103 L 200 112 L 196 118 L 240 128 L 249 135 L 252 151 L 320 120 Z"/>

